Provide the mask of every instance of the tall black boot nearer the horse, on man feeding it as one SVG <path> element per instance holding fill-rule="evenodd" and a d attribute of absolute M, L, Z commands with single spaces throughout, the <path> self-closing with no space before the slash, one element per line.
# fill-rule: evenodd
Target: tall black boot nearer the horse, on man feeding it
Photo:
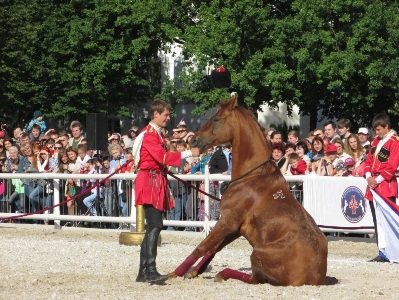
<path fill-rule="evenodd" d="M 161 275 L 157 271 L 157 247 L 161 228 L 151 228 L 147 235 L 147 282 L 162 282 L 168 279 L 168 275 Z"/>

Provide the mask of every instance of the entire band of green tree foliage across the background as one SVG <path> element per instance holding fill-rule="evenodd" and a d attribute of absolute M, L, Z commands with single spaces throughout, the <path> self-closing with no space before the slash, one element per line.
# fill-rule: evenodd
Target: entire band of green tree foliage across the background
<path fill-rule="evenodd" d="M 228 97 L 204 73 L 225 65 L 253 110 L 399 116 L 396 1 L 134 0 L 0 2 L 0 114 L 27 120 L 107 112 L 160 95 L 204 113 Z M 160 50 L 184 46 L 185 71 L 161 83 Z"/>

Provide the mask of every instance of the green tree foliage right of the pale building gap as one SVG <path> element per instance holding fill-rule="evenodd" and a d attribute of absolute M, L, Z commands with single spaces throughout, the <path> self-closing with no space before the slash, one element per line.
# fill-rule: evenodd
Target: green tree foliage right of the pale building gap
<path fill-rule="evenodd" d="M 228 96 L 204 84 L 208 65 L 225 65 L 249 107 L 285 102 L 311 116 L 396 113 L 398 4 L 388 1 L 208 1 L 184 31 L 187 74 L 171 98 L 194 101 L 198 112 Z"/>

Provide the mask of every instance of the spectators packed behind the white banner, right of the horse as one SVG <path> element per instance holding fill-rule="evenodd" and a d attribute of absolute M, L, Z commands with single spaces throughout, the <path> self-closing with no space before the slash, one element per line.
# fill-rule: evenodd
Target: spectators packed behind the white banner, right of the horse
<path fill-rule="evenodd" d="M 328 121 L 303 140 L 292 130 L 284 140 L 282 133 L 265 131 L 272 143 L 272 157 L 284 175 L 364 176 L 364 162 L 372 136 L 365 127 L 352 133 L 351 122 Z"/>

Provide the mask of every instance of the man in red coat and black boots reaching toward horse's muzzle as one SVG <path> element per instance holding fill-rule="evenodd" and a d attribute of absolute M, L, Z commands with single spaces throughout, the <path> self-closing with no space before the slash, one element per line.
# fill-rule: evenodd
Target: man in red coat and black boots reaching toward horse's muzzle
<path fill-rule="evenodd" d="M 162 213 L 170 209 L 170 192 L 167 185 L 166 167 L 180 166 L 180 161 L 199 156 L 199 149 L 183 152 L 167 152 L 162 129 L 170 120 L 170 105 L 163 100 L 151 104 L 151 122 L 143 128 L 133 145 L 133 156 L 138 175 L 135 181 L 135 205 L 143 205 L 146 231 L 140 251 L 140 269 L 137 282 L 164 281 L 156 269 L 157 242 L 163 227 Z"/>

